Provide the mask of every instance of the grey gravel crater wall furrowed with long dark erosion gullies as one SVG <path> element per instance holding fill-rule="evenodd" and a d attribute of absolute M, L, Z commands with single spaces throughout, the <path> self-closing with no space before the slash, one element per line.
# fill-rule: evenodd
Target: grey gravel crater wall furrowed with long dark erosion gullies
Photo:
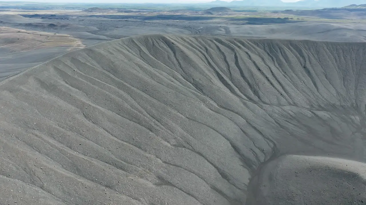
<path fill-rule="evenodd" d="M 1 203 L 245 204 L 277 156 L 364 162 L 365 54 L 164 35 L 67 53 L 0 84 Z"/>

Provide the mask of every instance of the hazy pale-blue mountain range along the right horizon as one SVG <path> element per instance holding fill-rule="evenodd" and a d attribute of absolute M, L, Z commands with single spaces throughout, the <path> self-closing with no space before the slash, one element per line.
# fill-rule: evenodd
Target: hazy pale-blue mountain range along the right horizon
<path fill-rule="evenodd" d="M 222 6 L 288 6 L 309 8 L 345 7 L 350 4 L 366 4 L 366 0 L 300 0 L 294 3 L 284 3 L 281 0 L 234 0 L 231 2 L 216 0 L 207 4 Z"/>

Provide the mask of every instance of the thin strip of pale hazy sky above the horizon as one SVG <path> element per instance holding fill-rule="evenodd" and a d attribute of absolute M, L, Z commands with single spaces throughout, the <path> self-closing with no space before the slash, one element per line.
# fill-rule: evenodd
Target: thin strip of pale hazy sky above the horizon
<path fill-rule="evenodd" d="M 3 1 L 33 1 L 33 2 L 82 2 L 82 3 L 199 3 L 213 0 L 3 0 Z M 231 1 L 231 0 L 224 0 Z M 283 2 L 295 2 L 298 0 L 282 0 Z"/>

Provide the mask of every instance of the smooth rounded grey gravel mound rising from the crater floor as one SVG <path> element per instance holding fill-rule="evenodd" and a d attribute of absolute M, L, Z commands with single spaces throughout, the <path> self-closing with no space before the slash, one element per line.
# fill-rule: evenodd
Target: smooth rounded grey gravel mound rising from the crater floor
<path fill-rule="evenodd" d="M 252 180 L 247 204 L 357 204 L 366 201 L 366 164 L 315 156 L 282 156 Z M 342 190 L 342 192 L 340 191 Z"/>

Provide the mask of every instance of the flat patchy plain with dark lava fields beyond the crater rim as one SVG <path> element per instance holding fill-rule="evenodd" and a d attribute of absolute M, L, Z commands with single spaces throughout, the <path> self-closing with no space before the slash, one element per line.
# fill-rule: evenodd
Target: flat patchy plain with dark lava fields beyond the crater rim
<path fill-rule="evenodd" d="M 358 20 L 332 22 L 315 18 L 306 21 L 281 18 L 280 12 L 239 12 L 226 7 L 198 11 L 90 8 L 86 11 L 3 10 L 0 13 L 0 80 L 70 50 L 135 35 L 366 41 L 365 24 Z M 251 17 L 253 15 L 264 16 Z"/>

